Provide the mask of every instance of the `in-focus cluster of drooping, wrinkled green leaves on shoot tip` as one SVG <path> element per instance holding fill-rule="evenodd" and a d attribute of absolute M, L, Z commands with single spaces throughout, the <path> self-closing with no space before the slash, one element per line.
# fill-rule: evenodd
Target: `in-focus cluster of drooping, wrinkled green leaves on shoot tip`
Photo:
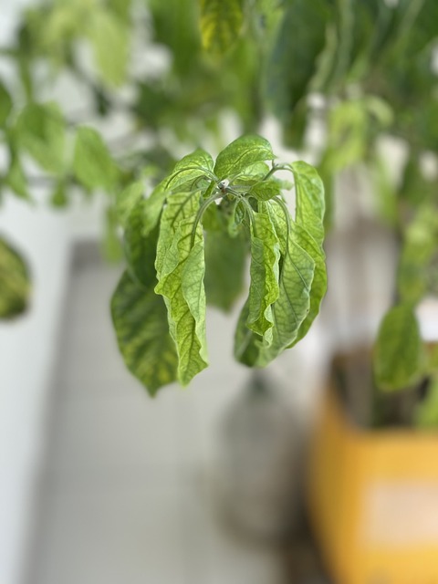
<path fill-rule="evenodd" d="M 306 162 L 274 159 L 268 141 L 245 135 L 215 162 L 203 150 L 185 156 L 147 198 L 142 183 L 120 194 L 128 269 L 112 318 L 127 366 L 151 393 L 207 366 L 206 303 L 229 308 L 240 296 L 248 252 L 237 360 L 265 367 L 317 316 L 327 287 L 323 186 Z M 292 174 L 295 217 L 278 171 Z"/>

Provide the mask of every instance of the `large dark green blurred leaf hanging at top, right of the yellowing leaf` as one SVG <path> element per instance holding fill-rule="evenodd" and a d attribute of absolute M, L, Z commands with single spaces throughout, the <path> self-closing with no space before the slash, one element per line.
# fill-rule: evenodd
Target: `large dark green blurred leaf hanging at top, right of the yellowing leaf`
<path fill-rule="evenodd" d="M 289 120 L 318 65 L 330 12 L 325 0 L 291 0 L 267 68 L 267 99 L 276 115 Z"/>

